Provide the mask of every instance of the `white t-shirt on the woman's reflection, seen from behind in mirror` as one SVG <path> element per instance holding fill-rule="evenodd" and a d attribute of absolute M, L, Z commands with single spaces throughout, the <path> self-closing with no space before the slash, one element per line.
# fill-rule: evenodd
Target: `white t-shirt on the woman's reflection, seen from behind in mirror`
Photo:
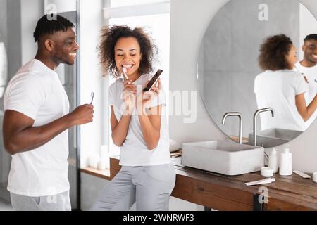
<path fill-rule="evenodd" d="M 281 128 L 298 131 L 305 130 L 305 122 L 299 114 L 295 96 L 308 91 L 303 75 L 292 70 L 266 70 L 256 76 L 254 93 L 258 108 L 271 107 L 271 113 L 261 113 L 261 129 Z"/>

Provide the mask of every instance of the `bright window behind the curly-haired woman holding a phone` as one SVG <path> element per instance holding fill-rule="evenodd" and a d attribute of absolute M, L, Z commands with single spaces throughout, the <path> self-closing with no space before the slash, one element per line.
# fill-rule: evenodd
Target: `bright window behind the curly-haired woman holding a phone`
<path fill-rule="evenodd" d="M 163 89 L 166 91 L 168 105 L 169 90 L 169 50 L 170 50 L 170 4 L 169 1 L 135 0 L 111 1 L 110 8 L 104 8 L 104 18 L 108 25 L 128 25 L 143 27 L 151 34 L 159 49 L 158 62 L 154 63 L 154 72 L 159 68 L 164 70 L 161 76 Z M 116 79 L 109 77 L 109 85 Z M 168 113 L 168 107 L 166 107 Z M 110 121 L 110 113 L 109 113 Z M 108 126 L 110 127 L 110 125 Z M 111 129 L 109 129 L 111 137 Z M 110 138 L 111 139 L 111 138 Z M 109 140 L 110 154 L 118 154 L 118 147 Z"/>

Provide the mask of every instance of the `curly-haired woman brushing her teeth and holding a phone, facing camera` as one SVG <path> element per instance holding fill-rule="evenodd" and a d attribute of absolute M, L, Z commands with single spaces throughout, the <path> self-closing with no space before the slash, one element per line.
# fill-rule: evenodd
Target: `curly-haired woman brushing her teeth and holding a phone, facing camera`
<path fill-rule="evenodd" d="M 92 210 L 168 210 L 175 186 L 165 98 L 159 86 L 143 92 L 151 79 L 155 46 L 141 29 L 102 30 L 99 56 L 106 72 L 118 78 L 109 89 L 112 139 L 120 146 L 117 176 L 102 191 Z M 124 69 L 125 68 L 125 69 Z M 126 78 L 119 78 L 126 70 Z"/>

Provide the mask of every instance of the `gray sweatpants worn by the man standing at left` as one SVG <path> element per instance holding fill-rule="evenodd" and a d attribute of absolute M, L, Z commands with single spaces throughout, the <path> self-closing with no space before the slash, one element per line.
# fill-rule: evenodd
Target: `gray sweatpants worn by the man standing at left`
<path fill-rule="evenodd" d="M 29 197 L 11 195 L 11 204 L 16 211 L 70 211 L 69 191 L 49 196 Z"/>

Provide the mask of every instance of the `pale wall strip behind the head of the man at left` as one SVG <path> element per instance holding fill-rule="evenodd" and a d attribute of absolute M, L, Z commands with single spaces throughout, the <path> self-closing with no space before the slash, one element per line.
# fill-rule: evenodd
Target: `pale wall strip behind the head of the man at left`
<path fill-rule="evenodd" d="M 21 1 L 21 9 L 22 65 L 24 65 L 37 53 L 33 32 L 37 20 L 44 15 L 44 3 L 42 0 L 23 0 Z"/>

